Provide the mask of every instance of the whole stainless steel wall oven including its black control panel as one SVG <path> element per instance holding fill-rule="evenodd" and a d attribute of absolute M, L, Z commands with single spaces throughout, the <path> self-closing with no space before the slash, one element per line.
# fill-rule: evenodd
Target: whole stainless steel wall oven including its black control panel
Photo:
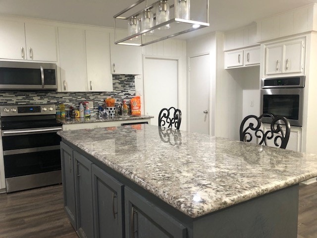
<path fill-rule="evenodd" d="M 261 113 L 287 118 L 291 125 L 303 125 L 305 76 L 263 78 L 261 82 Z M 263 122 L 271 119 L 264 117 Z"/>

